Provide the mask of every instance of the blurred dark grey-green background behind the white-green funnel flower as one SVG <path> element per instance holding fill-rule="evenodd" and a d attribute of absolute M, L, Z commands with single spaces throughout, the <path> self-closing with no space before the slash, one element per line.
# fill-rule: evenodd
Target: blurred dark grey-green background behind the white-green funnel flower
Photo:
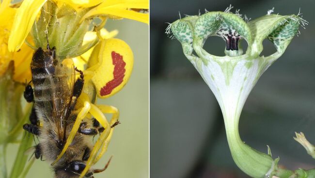
<path fill-rule="evenodd" d="M 298 14 L 309 26 L 295 37 L 258 80 L 241 114 L 243 141 L 289 169 L 315 167 L 293 139 L 303 132 L 315 144 L 314 0 L 151 0 L 150 3 L 150 176 L 151 178 L 247 178 L 235 165 L 220 107 L 211 90 L 183 55 L 181 44 L 164 34 L 168 24 L 207 11 L 232 12 L 252 19 L 274 7 L 279 15 Z M 264 41 L 261 55 L 275 52 Z M 210 37 L 205 49 L 223 55 L 225 42 Z M 246 48 L 246 45 L 245 45 Z M 246 51 L 246 49 L 244 50 Z"/>

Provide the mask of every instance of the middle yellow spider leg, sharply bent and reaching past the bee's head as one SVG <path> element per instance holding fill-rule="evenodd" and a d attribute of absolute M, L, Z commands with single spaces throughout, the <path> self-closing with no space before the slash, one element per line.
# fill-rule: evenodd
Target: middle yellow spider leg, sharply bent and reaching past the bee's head
<path fill-rule="evenodd" d="M 93 147 L 93 150 L 90 153 L 90 157 L 88 161 L 86 162 L 86 166 L 80 175 L 80 178 L 83 178 L 85 174 L 89 171 L 90 167 L 94 164 L 94 159 L 97 156 L 97 152 L 99 151 L 103 143 L 106 141 L 106 139 L 110 135 L 110 129 L 109 129 L 110 123 L 107 121 L 102 111 L 94 104 L 91 104 L 90 113 L 105 128 L 105 131 L 102 134 L 100 134 L 100 136 L 98 137 Z"/>

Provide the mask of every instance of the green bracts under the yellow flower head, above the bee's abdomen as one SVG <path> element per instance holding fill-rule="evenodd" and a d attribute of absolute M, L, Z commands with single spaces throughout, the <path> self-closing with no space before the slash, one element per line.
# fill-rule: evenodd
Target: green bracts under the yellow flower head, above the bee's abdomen
<path fill-rule="evenodd" d="M 91 22 L 91 19 L 82 20 L 82 17 L 91 8 L 94 7 L 76 11 L 69 5 L 57 7 L 54 2 L 47 1 L 39 19 L 32 27 L 35 47 L 47 48 L 47 32 L 49 46 L 56 47 L 56 56 L 59 60 L 76 57 L 89 50 L 98 42 L 98 39 L 95 39 L 82 46 Z"/>

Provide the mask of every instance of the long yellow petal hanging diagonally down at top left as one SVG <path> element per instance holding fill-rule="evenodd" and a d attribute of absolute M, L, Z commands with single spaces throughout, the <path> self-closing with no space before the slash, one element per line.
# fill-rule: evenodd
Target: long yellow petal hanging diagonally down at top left
<path fill-rule="evenodd" d="M 47 0 L 24 0 L 16 12 L 8 42 L 9 51 L 17 51 L 24 43 L 41 7 Z"/>

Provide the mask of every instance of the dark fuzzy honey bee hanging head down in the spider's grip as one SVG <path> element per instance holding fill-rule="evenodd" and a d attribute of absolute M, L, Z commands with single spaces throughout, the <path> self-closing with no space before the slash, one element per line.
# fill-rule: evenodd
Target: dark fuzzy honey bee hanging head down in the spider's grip
<path fill-rule="evenodd" d="M 35 158 L 42 160 L 44 157 L 48 162 L 54 162 L 52 169 L 55 178 L 93 178 L 94 173 L 104 171 L 110 160 L 103 169 L 89 168 L 105 152 L 108 143 L 104 146 L 103 142 L 109 142 L 111 128 L 119 123 L 118 114 L 111 125 L 104 124 L 104 119 L 86 119 L 89 110 L 85 108 L 94 105 L 89 105 L 86 100 L 78 103 L 84 86 L 83 72 L 70 59 L 58 61 L 56 48 L 50 48 L 48 43 L 47 50 L 40 47 L 33 54 L 31 74 L 34 88 L 29 83 L 24 98 L 27 102 L 33 102 L 33 108 L 30 124 L 24 124 L 23 129 L 39 139 L 34 147 Z M 97 134 L 100 136 L 94 148 L 87 135 Z M 101 147 L 101 154 L 96 157 Z M 91 152 L 93 155 L 90 158 Z M 85 170 L 86 167 L 88 170 Z"/>

